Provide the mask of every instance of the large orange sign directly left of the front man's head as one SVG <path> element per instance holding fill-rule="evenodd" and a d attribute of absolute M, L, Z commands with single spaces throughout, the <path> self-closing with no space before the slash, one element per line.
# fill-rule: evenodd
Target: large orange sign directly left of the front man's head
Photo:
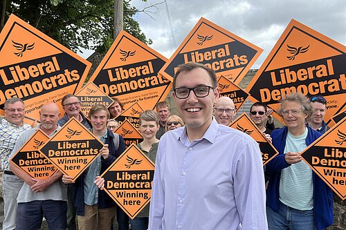
<path fill-rule="evenodd" d="M 121 31 L 91 76 L 109 97 L 117 97 L 125 108 L 138 102 L 144 109 L 163 102 L 172 88 L 158 70 L 167 59 L 125 31 Z"/>

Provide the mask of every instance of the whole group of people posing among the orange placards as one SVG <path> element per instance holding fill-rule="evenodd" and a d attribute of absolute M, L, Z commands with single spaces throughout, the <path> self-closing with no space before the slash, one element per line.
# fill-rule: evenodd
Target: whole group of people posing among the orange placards
<path fill-rule="evenodd" d="M 40 229 L 43 216 L 49 229 L 76 229 L 75 215 L 79 229 L 111 229 L 115 218 L 120 230 L 129 229 L 129 222 L 134 230 L 322 230 L 332 224 L 331 189 L 299 155 L 327 130 L 325 98 L 286 95 L 277 111 L 285 126 L 276 129 L 271 109 L 261 102 L 251 106 L 249 116 L 279 151 L 264 168 L 257 142 L 228 127 L 235 105 L 219 97 L 214 70 L 196 63 L 179 66 L 172 95 L 179 116 L 170 115 L 167 102 L 159 102 L 156 111 L 139 117 L 143 142 L 137 146 L 155 163 L 155 173 L 151 202 L 134 220 L 103 191 L 100 178 L 126 148 L 114 132 L 123 110 L 118 99 L 109 109 L 93 106 L 86 118 L 78 97 L 66 95 L 64 116 L 56 104 L 44 104 L 35 128 L 24 123 L 24 102 L 8 99 L 0 124 L 3 229 Z M 46 180 L 30 178 L 9 163 L 37 128 L 52 136 L 71 117 L 104 143 L 75 182 L 61 172 Z"/>

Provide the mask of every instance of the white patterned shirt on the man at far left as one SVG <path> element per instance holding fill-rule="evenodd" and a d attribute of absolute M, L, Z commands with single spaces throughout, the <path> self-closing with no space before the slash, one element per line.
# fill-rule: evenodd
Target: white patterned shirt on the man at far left
<path fill-rule="evenodd" d="M 1 169 L 3 171 L 10 171 L 10 154 L 13 147 L 24 131 L 30 129 L 31 126 L 28 124 L 23 124 L 17 126 L 3 119 L 0 124 L 0 162 Z"/>

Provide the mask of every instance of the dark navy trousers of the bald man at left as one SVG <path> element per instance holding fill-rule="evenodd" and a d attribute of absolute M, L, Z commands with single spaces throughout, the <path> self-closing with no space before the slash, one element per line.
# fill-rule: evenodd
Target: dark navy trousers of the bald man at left
<path fill-rule="evenodd" d="M 65 230 L 67 202 L 62 200 L 35 200 L 18 203 L 16 230 L 41 229 L 45 217 L 48 229 Z"/>

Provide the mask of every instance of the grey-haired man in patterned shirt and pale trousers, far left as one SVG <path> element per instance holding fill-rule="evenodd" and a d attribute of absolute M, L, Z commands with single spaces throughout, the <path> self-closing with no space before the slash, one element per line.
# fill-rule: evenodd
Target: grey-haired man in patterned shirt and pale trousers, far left
<path fill-rule="evenodd" d="M 24 131 L 31 128 L 24 123 L 25 106 L 23 100 L 17 97 L 8 99 L 5 104 L 5 118 L 0 124 L 0 159 L 3 197 L 3 230 L 15 229 L 17 222 L 17 195 L 23 181 L 10 171 L 10 153 Z"/>

